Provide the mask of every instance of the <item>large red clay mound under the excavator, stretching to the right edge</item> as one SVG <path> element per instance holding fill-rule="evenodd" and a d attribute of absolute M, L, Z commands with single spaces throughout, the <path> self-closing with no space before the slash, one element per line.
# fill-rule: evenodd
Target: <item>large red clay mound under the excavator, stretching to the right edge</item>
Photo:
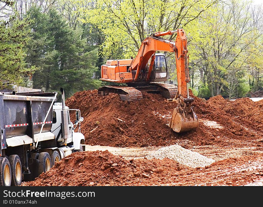
<path fill-rule="evenodd" d="M 249 98 L 236 101 L 225 100 L 221 95 L 203 101 L 195 98 L 194 110 L 199 118 L 199 127 L 185 133 L 175 133 L 166 124 L 172 116 L 175 102 L 165 102 L 158 94 L 143 93 L 143 99 L 136 102 L 120 100 L 117 94 L 97 95 L 97 90 L 75 93 L 66 100 L 70 108 L 80 109 L 84 121 L 81 132 L 85 136 L 85 144 L 107 145 L 113 147 L 147 147 L 168 146 L 178 140 L 189 140 L 182 147 L 194 145 L 220 144 L 229 145 L 225 141 L 241 143 L 250 140 L 258 146 L 262 136 L 262 126 L 255 120 L 263 119 L 258 111 L 260 105 Z M 262 109 L 262 107 L 261 107 Z M 120 121 L 122 120 L 122 121 Z M 216 121 L 223 128 L 208 127 L 206 121 Z M 244 126 L 246 126 L 245 129 Z M 256 130 L 257 133 L 251 133 Z"/>

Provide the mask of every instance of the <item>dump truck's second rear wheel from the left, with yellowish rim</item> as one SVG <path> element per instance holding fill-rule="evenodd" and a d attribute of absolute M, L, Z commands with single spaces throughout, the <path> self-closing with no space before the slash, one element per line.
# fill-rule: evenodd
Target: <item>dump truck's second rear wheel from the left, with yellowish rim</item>
<path fill-rule="evenodd" d="M 11 185 L 19 186 L 22 182 L 22 165 L 18 155 L 10 155 L 9 163 L 11 166 Z"/>

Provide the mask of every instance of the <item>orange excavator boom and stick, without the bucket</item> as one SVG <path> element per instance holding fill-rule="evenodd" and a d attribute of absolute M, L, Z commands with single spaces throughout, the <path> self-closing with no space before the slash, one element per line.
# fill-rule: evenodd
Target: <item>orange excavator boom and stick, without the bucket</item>
<path fill-rule="evenodd" d="M 176 41 L 160 38 L 160 36 L 172 35 L 177 33 Z M 190 82 L 188 57 L 187 57 L 187 39 L 183 29 L 177 31 L 157 32 L 147 37 L 141 44 L 137 56 L 132 60 L 130 71 L 136 70 L 134 82 L 138 80 L 139 74 L 152 57 L 148 69 L 146 81 L 149 81 L 155 60 L 156 51 L 175 52 L 176 69 L 178 79 L 178 94 L 184 98 L 189 98 L 188 84 Z"/>

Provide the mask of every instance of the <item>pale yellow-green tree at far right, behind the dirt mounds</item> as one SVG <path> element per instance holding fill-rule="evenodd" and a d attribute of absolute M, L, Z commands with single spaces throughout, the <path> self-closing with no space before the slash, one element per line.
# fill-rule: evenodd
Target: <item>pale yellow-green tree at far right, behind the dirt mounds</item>
<path fill-rule="evenodd" d="M 251 4 L 247 2 L 230 0 L 216 4 L 213 10 L 204 14 L 204 21 L 199 22 L 202 26 L 199 34 L 192 36 L 195 56 L 199 57 L 195 64 L 204 72 L 203 80 L 212 96 L 230 86 L 228 76 L 234 75 L 233 80 L 238 81 L 236 73 L 244 69 L 244 58 L 254 50 L 255 41 L 262 36 L 260 28 L 253 25 L 250 13 Z"/>

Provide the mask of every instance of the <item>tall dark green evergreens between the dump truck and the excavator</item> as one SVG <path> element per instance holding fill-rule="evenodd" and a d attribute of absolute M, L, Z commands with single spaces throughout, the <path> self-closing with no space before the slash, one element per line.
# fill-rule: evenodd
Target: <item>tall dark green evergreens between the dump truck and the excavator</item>
<path fill-rule="evenodd" d="M 62 87 L 71 96 L 100 86 L 100 81 L 93 78 L 98 50 L 85 45 L 82 30 L 70 28 L 55 9 L 42 13 L 40 7 L 32 7 L 27 18 L 32 21 L 33 31 L 33 40 L 27 45 L 27 63 L 38 68 L 33 76 L 34 88 L 56 91 Z"/>

